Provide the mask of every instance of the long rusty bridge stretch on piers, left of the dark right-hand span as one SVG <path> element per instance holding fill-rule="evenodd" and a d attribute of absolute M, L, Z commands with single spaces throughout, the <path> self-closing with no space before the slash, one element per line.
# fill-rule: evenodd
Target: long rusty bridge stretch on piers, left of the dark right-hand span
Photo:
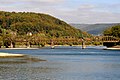
<path fill-rule="evenodd" d="M 50 39 L 46 39 L 46 38 L 34 38 L 34 37 L 29 37 L 29 38 L 16 38 L 15 42 L 19 42 L 19 43 L 25 43 L 27 47 L 30 47 L 31 43 L 37 44 L 37 45 L 41 45 L 41 44 L 48 44 L 51 45 L 51 47 L 54 48 L 55 45 L 78 45 L 81 44 L 82 48 L 85 48 L 85 42 L 88 41 L 90 39 L 87 38 L 75 38 L 75 37 L 62 37 L 62 38 L 50 38 Z M 13 45 L 11 44 L 11 47 L 13 47 Z"/>

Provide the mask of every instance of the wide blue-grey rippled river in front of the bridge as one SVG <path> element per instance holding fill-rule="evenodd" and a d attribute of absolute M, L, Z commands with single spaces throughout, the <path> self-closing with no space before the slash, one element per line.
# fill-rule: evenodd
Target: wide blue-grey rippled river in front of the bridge
<path fill-rule="evenodd" d="M 0 80 L 120 80 L 120 50 L 103 47 L 48 47 L 41 49 L 0 50 L 27 54 L 47 61 L 0 62 Z M 15 58 L 0 58 L 0 61 Z"/>

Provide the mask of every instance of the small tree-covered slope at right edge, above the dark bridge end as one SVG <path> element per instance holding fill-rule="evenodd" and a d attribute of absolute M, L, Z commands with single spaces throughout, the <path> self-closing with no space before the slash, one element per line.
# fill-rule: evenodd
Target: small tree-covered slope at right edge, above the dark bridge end
<path fill-rule="evenodd" d="M 105 36 L 114 36 L 120 38 L 120 24 L 106 29 L 103 34 Z"/>

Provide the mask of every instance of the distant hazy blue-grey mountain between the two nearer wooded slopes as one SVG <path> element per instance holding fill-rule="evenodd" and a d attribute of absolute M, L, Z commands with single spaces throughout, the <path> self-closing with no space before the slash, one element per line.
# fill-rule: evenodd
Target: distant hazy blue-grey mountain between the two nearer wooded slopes
<path fill-rule="evenodd" d="M 117 25 L 119 23 L 101 23 L 101 24 L 70 24 L 71 26 L 74 26 L 77 29 L 80 29 L 82 31 L 86 31 L 93 35 L 100 35 L 103 33 L 103 31 L 106 28 L 112 27 L 114 25 Z"/>

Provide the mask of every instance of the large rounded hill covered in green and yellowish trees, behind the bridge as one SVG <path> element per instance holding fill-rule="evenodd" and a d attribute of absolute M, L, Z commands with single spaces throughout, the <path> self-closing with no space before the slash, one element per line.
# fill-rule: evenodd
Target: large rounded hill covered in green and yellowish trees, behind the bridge
<path fill-rule="evenodd" d="M 17 35 L 40 34 L 47 37 L 80 37 L 81 30 L 47 14 L 33 12 L 0 11 L 0 28 L 16 32 Z M 86 34 L 85 34 L 86 35 Z"/>

